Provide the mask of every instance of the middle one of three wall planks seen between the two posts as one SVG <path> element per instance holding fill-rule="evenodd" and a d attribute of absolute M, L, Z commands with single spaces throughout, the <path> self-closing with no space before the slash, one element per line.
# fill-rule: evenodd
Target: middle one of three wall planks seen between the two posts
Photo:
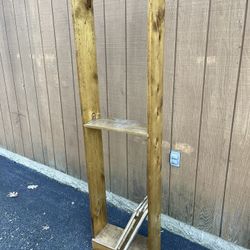
<path fill-rule="evenodd" d="M 105 1 L 108 118 L 127 119 L 125 1 Z M 111 191 L 127 197 L 127 136 L 109 134 Z"/>

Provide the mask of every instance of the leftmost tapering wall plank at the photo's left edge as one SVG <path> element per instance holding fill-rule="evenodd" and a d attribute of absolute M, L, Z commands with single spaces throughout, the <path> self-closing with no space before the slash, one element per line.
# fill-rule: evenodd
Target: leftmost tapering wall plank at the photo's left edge
<path fill-rule="evenodd" d="M 1 51 L 1 46 L 0 46 Z M 1 89 L 1 98 L 0 98 L 0 105 L 2 109 L 2 119 L 3 119 L 3 127 L 5 130 L 5 141 L 6 141 L 6 148 L 12 152 L 15 152 L 15 141 L 14 141 L 14 134 L 13 134 L 13 127 L 12 127 L 12 120 L 9 108 L 9 100 L 6 91 L 6 82 L 5 82 L 5 75 L 3 70 L 3 63 L 2 57 L 0 54 L 0 89 Z"/>

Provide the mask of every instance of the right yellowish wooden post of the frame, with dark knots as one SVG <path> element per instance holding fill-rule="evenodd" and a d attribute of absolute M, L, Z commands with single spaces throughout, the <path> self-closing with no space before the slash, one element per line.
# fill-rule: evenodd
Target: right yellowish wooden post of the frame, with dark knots
<path fill-rule="evenodd" d="M 161 247 L 161 159 L 165 0 L 148 0 L 148 249 Z"/>

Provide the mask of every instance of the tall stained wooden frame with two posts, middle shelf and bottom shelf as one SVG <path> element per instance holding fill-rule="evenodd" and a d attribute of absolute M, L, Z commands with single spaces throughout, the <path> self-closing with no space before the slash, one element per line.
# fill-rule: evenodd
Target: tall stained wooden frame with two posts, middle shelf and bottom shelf
<path fill-rule="evenodd" d="M 127 120 L 100 119 L 93 0 L 72 0 L 72 7 L 93 249 L 115 249 L 112 246 L 122 233 L 121 228 L 107 222 L 101 129 L 108 129 L 147 137 L 148 237 L 137 236 L 130 249 L 158 250 L 161 214 L 165 0 L 148 0 L 147 128 Z"/>

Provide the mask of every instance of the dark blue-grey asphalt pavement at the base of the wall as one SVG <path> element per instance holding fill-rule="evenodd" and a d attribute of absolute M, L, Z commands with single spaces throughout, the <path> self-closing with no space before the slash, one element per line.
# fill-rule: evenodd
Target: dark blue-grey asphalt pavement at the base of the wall
<path fill-rule="evenodd" d="M 108 213 L 126 225 L 129 214 L 111 205 Z M 91 249 L 88 195 L 0 156 L 0 249 Z M 205 248 L 163 231 L 162 249 Z"/>

